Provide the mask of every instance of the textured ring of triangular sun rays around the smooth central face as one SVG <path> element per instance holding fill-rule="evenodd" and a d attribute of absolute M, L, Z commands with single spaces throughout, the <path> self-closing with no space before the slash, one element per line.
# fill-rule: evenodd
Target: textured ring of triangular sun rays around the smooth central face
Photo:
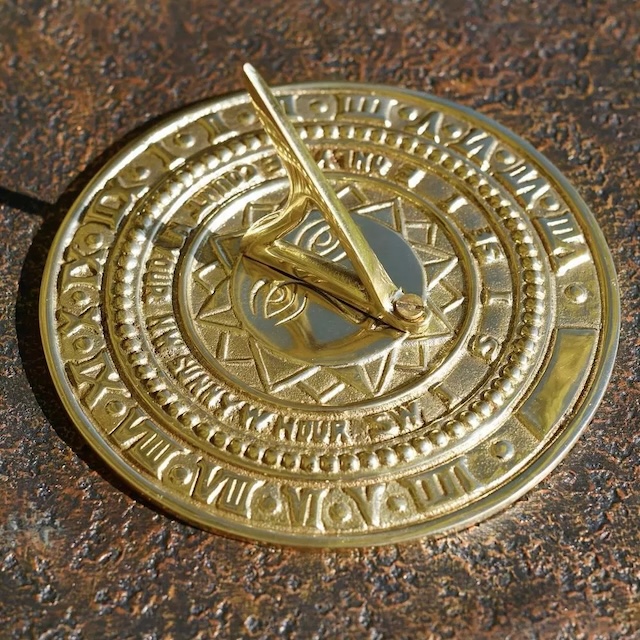
<path fill-rule="evenodd" d="M 424 214 L 408 215 L 399 198 L 372 204 L 353 185 L 339 189 L 338 195 L 350 212 L 388 226 L 413 248 L 426 275 L 429 332 L 419 339 L 398 339 L 383 353 L 340 366 L 301 363 L 274 353 L 247 331 L 232 303 L 232 272 L 244 230 L 274 210 L 273 204 L 251 204 L 244 210 L 240 230 L 236 227 L 232 232 L 209 237 L 207 247 L 199 252 L 200 266 L 192 276 L 196 327 L 217 365 L 243 386 L 283 400 L 321 405 L 375 398 L 427 373 L 434 354 L 455 334 L 464 303 L 463 276 L 458 258 L 437 222 L 425 220 Z M 292 233 L 300 236 L 300 230 Z M 300 241 L 300 237 L 292 239 Z M 339 247 L 331 245 L 331 238 L 323 238 L 323 243 L 325 248 L 331 247 L 336 261 L 347 260 Z M 271 295 L 278 304 L 286 302 L 287 308 L 295 308 L 295 301 Z"/>

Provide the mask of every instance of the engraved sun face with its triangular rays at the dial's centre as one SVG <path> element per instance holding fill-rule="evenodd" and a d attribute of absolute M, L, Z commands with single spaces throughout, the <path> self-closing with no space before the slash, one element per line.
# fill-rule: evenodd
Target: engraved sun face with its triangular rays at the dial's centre
<path fill-rule="evenodd" d="M 191 285 L 205 358 L 243 388 L 320 407 L 374 399 L 428 373 L 464 319 L 467 276 L 434 216 L 353 181 L 339 181 L 337 193 L 394 282 L 425 300 L 427 330 L 414 338 L 243 258 L 243 229 L 281 202 L 275 194 L 250 201 L 224 230 L 211 220 L 195 251 Z M 350 266 L 318 211 L 286 240 Z"/>

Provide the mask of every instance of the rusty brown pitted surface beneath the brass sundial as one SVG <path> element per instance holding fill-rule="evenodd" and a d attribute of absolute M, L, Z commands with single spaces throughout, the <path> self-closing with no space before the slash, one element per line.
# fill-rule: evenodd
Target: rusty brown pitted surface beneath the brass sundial
<path fill-rule="evenodd" d="M 637 13 L 629 0 L 2 3 L 0 637 L 640 637 Z M 253 546 L 134 497 L 71 426 L 37 325 L 53 234 L 123 138 L 239 88 L 247 59 L 272 84 L 366 80 L 474 107 L 594 210 L 620 279 L 618 366 L 567 460 L 501 515 L 401 547 Z"/>

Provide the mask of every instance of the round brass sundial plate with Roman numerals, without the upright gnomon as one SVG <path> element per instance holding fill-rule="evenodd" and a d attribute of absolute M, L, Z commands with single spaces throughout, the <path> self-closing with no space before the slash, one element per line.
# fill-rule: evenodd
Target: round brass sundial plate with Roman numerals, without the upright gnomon
<path fill-rule="evenodd" d="M 111 467 L 199 526 L 326 547 L 476 522 L 559 462 L 604 392 L 619 318 L 602 235 L 548 161 L 463 107 L 274 92 L 428 329 L 242 257 L 288 181 L 238 94 L 155 127 L 72 207 L 42 288 L 58 391 Z M 287 240 L 345 261 L 317 211 Z"/>

